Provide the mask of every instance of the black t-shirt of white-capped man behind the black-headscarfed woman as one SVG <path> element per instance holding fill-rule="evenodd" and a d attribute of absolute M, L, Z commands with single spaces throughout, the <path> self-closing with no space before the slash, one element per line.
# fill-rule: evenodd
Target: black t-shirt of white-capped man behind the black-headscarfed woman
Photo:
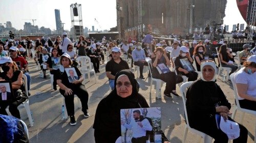
<path fill-rule="evenodd" d="M 121 59 L 121 58 L 120 58 Z M 116 76 L 116 73 L 120 70 L 130 69 L 129 65 L 121 59 L 120 63 L 117 64 L 114 59 L 106 63 L 106 72 L 111 72 L 112 75 Z"/>

